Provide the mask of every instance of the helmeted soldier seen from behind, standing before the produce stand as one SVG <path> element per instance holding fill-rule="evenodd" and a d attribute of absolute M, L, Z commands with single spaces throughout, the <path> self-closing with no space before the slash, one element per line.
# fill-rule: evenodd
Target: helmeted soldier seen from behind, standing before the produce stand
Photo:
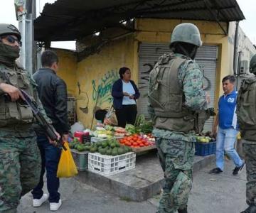
<path fill-rule="evenodd" d="M 194 130 L 203 127 L 201 116 L 210 102 L 203 91 L 202 72 L 193 60 L 201 45 L 195 25 L 179 24 L 171 34 L 171 53 L 162 55 L 150 73 L 149 114 L 154 120 L 153 133 L 165 177 L 159 213 L 187 212 Z"/>

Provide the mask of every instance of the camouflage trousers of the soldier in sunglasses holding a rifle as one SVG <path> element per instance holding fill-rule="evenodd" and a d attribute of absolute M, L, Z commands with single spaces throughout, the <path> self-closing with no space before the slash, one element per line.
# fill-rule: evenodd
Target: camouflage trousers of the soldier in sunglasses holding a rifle
<path fill-rule="evenodd" d="M 36 135 L 0 131 L 0 212 L 16 212 L 21 196 L 36 187 L 41 155 Z"/>

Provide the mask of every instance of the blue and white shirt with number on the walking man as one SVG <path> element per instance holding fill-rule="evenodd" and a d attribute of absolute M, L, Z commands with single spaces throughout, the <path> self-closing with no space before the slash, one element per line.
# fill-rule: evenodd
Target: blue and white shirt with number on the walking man
<path fill-rule="evenodd" d="M 219 108 L 219 126 L 221 129 L 234 128 L 238 129 L 238 120 L 235 113 L 236 99 L 238 96 L 237 91 L 233 91 L 230 94 L 223 94 L 218 102 Z"/>

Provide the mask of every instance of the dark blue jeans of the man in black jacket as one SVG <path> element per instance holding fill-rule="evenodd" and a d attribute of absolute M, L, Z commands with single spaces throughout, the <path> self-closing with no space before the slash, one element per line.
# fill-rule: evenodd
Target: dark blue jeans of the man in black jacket
<path fill-rule="evenodd" d="M 51 145 L 46 136 L 38 136 L 37 142 L 41 153 L 42 167 L 39 183 L 32 191 L 33 199 L 40 199 L 43 196 L 43 175 L 46 172 L 49 202 L 58 202 L 60 200 L 58 192 L 60 180 L 57 178 L 57 170 L 61 150 Z"/>

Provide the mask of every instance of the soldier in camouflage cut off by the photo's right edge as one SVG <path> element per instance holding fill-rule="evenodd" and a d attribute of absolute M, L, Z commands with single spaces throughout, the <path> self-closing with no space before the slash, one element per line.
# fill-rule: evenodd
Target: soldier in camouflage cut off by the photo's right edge
<path fill-rule="evenodd" d="M 250 60 L 250 72 L 256 75 L 256 55 L 252 57 Z M 256 77 L 249 77 L 245 79 L 246 82 L 250 83 L 250 89 L 248 89 L 249 94 L 248 98 L 250 99 L 250 104 L 252 104 L 251 111 L 247 111 L 247 115 L 254 121 L 254 125 L 252 123 L 250 126 L 244 125 L 248 121 L 242 122 L 242 118 L 240 118 L 240 105 L 250 106 L 245 101 L 241 101 L 240 92 L 238 92 L 238 124 L 240 126 L 241 136 L 242 136 L 242 151 L 245 154 L 245 164 L 246 164 L 246 175 L 247 175 L 247 183 L 246 183 L 246 202 L 249 205 L 245 211 L 241 213 L 256 213 L 256 105 L 255 105 L 255 89 L 256 89 Z M 242 88 L 242 86 L 241 86 Z M 240 88 L 240 90 L 241 90 Z M 243 116 L 243 114 L 241 114 Z"/>

